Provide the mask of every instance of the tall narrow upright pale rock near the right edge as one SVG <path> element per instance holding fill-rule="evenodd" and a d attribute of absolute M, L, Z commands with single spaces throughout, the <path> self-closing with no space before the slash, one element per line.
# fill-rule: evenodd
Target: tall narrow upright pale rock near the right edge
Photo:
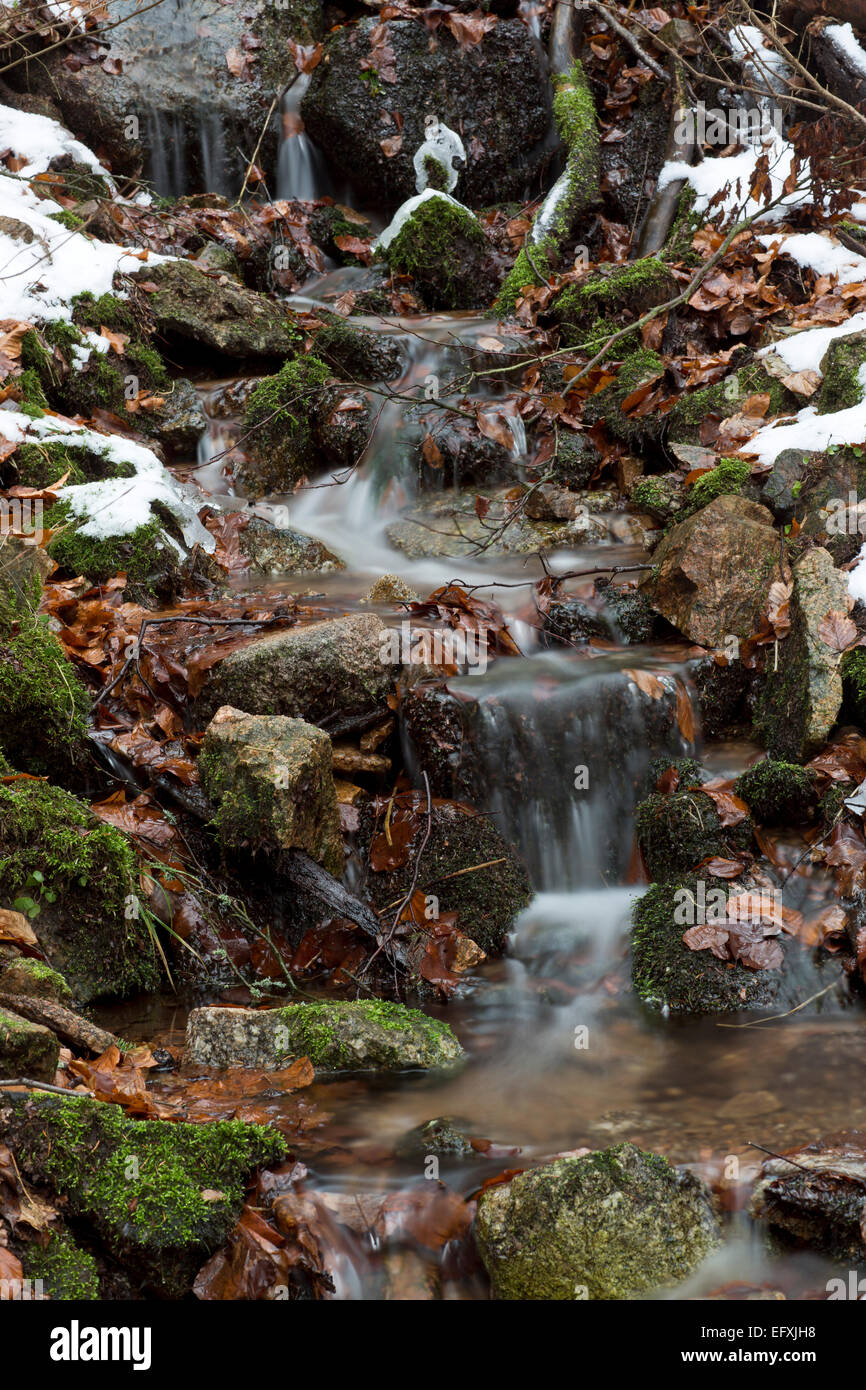
<path fill-rule="evenodd" d="M 816 546 L 794 566 L 791 631 L 767 666 L 756 728 L 771 758 L 805 762 L 826 741 L 842 705 L 840 652 L 820 635 L 828 613 L 848 612 L 848 578 Z"/>

